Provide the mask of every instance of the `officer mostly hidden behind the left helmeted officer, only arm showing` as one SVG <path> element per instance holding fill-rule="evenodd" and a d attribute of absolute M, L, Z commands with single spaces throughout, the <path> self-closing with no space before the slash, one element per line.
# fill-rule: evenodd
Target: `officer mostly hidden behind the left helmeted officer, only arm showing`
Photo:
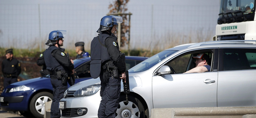
<path fill-rule="evenodd" d="M 50 75 L 50 72 L 49 72 L 49 70 L 46 69 L 46 65 L 44 62 L 44 52 L 42 52 L 39 55 L 39 58 L 36 60 L 36 64 L 38 66 L 43 66 L 42 70 L 40 70 L 40 74 L 42 77 L 46 77 L 46 76 Z"/>

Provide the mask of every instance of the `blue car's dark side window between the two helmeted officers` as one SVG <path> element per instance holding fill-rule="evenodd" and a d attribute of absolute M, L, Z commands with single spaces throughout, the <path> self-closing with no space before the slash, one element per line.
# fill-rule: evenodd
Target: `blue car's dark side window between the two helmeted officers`
<path fill-rule="evenodd" d="M 85 63 L 84 65 L 76 68 L 75 78 L 81 78 L 81 77 L 91 77 L 90 63 Z"/>

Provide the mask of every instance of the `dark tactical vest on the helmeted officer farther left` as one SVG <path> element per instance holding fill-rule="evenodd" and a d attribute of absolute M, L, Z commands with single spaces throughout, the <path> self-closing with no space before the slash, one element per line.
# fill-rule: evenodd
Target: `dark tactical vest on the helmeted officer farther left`
<path fill-rule="evenodd" d="M 57 48 L 56 46 L 50 46 L 44 52 L 44 61 L 45 61 L 46 69 L 50 71 L 64 70 L 64 68 L 60 65 L 60 63 L 52 56 L 52 52 L 56 49 L 60 49 L 60 48 Z"/>

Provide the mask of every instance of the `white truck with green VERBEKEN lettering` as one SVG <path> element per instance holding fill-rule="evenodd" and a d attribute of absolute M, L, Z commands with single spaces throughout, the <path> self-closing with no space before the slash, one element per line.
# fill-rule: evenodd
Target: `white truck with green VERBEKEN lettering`
<path fill-rule="evenodd" d="M 220 0 L 213 41 L 256 40 L 256 0 Z"/>

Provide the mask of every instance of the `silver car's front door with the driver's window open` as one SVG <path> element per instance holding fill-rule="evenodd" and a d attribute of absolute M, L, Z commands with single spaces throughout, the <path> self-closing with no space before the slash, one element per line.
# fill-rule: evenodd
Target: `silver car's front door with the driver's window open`
<path fill-rule="evenodd" d="M 218 72 L 212 71 L 214 70 L 212 65 L 210 72 L 183 73 L 190 70 L 190 65 L 193 65 L 191 54 L 182 55 L 170 61 L 172 63 L 170 65 L 178 74 L 153 76 L 154 108 L 217 107 Z M 217 58 L 218 53 L 213 57 Z"/>

